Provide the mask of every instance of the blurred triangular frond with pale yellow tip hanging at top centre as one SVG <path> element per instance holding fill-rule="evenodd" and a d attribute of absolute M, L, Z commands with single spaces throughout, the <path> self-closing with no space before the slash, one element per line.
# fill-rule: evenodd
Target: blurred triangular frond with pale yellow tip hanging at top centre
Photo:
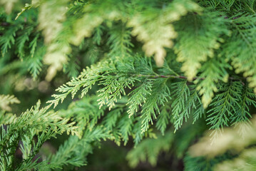
<path fill-rule="evenodd" d="M 135 13 L 128 22 L 133 27 L 133 36 L 138 36 L 138 40 L 143 41 L 145 54 L 155 55 L 158 66 L 163 66 L 166 53 L 164 48 L 172 47 L 171 39 L 177 36 L 171 23 L 178 21 L 188 11 L 200 11 L 200 7 L 193 1 L 172 1 L 163 10 L 147 8 L 143 13 Z"/>

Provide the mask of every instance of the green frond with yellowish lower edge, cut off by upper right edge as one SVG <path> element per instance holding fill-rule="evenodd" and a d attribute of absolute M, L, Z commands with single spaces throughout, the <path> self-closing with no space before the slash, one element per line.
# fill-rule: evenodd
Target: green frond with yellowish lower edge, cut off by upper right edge
<path fill-rule="evenodd" d="M 246 14 L 237 15 L 232 16 L 235 18 L 231 21 L 234 33 L 232 33 L 230 41 L 227 43 L 225 52 L 227 58 L 231 59 L 231 64 L 235 68 L 235 72 L 243 73 L 243 76 L 249 82 L 249 86 L 255 88 L 255 61 L 253 60 L 255 58 L 255 50 L 253 48 L 255 43 L 255 16 L 247 16 Z M 244 43 L 237 41 L 237 37 L 242 38 Z"/>

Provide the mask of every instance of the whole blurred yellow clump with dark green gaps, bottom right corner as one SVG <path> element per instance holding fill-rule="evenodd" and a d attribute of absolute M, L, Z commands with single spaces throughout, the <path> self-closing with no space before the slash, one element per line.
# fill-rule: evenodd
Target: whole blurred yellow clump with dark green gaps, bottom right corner
<path fill-rule="evenodd" d="M 200 165 L 208 170 L 255 170 L 255 121 L 255 117 L 252 118 L 250 128 L 247 123 L 239 124 L 240 128 L 246 130 L 243 136 L 244 141 L 237 138 L 240 136 L 240 128 L 237 128 L 237 125 L 235 128 L 224 128 L 222 135 L 216 138 L 213 145 L 209 146 L 211 140 L 208 134 L 200 138 L 189 149 L 185 162 L 188 170 L 190 168 L 196 170 L 195 168 Z M 199 165 L 194 165 L 195 160 L 201 160 L 197 162 Z M 211 167 L 208 167 L 209 164 Z"/>

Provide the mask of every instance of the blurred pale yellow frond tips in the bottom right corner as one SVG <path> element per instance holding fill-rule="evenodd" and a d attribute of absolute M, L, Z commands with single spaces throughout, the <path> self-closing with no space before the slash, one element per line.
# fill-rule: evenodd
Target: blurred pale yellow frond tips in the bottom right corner
<path fill-rule="evenodd" d="M 225 128 L 222 135 L 216 138 L 215 142 L 209 138 L 209 133 L 199 142 L 190 147 L 189 154 L 193 157 L 205 156 L 209 158 L 222 155 L 227 151 L 236 153 L 237 156 L 232 160 L 225 160 L 215 165 L 213 170 L 255 170 L 255 118 L 252 118 L 252 125 L 241 123 L 237 128 Z M 242 140 L 240 130 L 246 130 L 243 133 Z M 212 145 L 209 145 L 212 144 Z"/>

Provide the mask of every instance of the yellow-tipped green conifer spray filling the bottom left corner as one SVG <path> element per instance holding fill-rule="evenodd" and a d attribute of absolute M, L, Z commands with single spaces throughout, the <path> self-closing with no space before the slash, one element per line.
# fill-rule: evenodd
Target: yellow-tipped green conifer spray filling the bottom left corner
<path fill-rule="evenodd" d="M 48 107 L 39 109 L 40 105 L 39 101 L 31 110 L 26 110 L 19 117 L 14 116 L 9 125 L 1 126 L 1 170 L 13 170 L 14 168 L 16 170 L 31 170 L 43 167 L 47 161 L 41 163 L 32 161 L 43 142 L 64 131 L 72 135 L 76 133 L 74 123 L 68 123 L 68 119 L 61 118 L 58 113 L 47 112 Z M 35 135 L 37 135 L 37 141 L 34 140 Z M 23 142 L 22 145 L 19 144 L 19 140 Z M 23 153 L 23 160 L 20 163 L 16 163 L 14 158 L 17 147 Z"/>

